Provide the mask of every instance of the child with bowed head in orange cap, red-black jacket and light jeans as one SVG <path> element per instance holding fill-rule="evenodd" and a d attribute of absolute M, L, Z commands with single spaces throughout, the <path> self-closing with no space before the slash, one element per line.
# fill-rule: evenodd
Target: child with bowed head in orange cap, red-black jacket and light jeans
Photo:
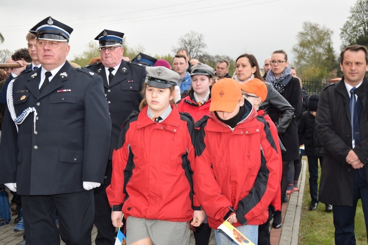
<path fill-rule="evenodd" d="M 258 225 L 267 221 L 280 180 L 280 159 L 268 124 L 241 95 L 240 84 L 223 78 L 211 89 L 209 117 L 196 126 L 194 189 L 216 229 L 216 243 L 232 241 L 217 230 L 228 220 L 257 244 Z"/>

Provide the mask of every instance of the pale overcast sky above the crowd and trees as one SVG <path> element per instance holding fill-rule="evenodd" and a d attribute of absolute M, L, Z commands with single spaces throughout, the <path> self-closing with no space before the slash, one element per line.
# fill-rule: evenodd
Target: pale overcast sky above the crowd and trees
<path fill-rule="evenodd" d="M 71 26 L 71 60 L 103 29 L 124 32 L 130 47 L 151 56 L 173 54 L 180 36 L 202 33 L 212 54 L 236 59 L 254 54 L 262 68 L 265 57 L 284 49 L 292 64 L 292 46 L 302 23 L 325 25 L 334 33 L 340 53 L 340 28 L 355 0 L 1 0 L 0 49 L 26 47 L 27 31 L 48 16 Z M 98 42 L 98 41 L 95 41 Z"/>

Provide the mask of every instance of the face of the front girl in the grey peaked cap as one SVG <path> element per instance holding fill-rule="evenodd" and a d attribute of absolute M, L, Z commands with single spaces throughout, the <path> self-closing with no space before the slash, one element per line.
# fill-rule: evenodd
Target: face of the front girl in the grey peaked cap
<path fill-rule="evenodd" d="M 169 88 L 159 89 L 147 85 L 146 100 L 150 110 L 155 116 L 160 116 L 174 98 Z"/>

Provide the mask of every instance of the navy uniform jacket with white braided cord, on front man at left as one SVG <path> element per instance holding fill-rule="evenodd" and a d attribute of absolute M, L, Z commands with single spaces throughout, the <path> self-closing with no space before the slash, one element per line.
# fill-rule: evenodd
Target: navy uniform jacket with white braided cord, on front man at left
<path fill-rule="evenodd" d="M 84 191 L 83 181 L 104 181 L 111 121 L 102 79 L 66 62 L 40 95 L 41 70 L 18 76 L 16 115 L 37 111 L 18 125 L 6 110 L 0 145 L 0 182 L 17 183 L 20 195 Z M 70 91 L 69 91 L 70 90 Z"/>

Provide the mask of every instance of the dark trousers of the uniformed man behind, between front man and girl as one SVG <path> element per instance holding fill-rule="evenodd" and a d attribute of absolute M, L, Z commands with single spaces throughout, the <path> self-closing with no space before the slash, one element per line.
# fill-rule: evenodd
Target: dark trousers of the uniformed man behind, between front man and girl
<path fill-rule="evenodd" d="M 97 227 L 96 245 L 114 245 L 115 227 L 111 221 L 111 207 L 108 204 L 106 188 L 111 184 L 112 165 L 107 163 L 104 183 L 94 189 L 95 194 L 95 225 Z"/>

